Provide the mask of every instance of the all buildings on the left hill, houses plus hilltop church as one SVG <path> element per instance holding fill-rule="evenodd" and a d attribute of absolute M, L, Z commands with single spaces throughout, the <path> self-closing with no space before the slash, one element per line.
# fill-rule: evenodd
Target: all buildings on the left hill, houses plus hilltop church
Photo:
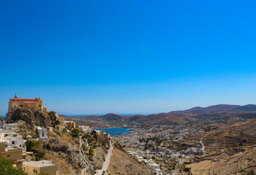
<path fill-rule="evenodd" d="M 47 109 L 42 107 L 41 98 L 18 98 L 15 94 L 14 98 L 10 98 L 8 112 L 6 119 L 10 120 L 13 112 L 16 109 L 38 109 L 45 114 L 48 114 Z M 56 120 L 59 121 L 55 128 L 59 131 L 71 132 L 74 128 L 78 128 L 81 132 L 90 134 L 91 128 L 89 126 L 79 125 L 76 126 L 73 121 L 66 121 L 64 117 L 60 117 L 56 114 Z M 26 139 L 36 140 L 39 139 L 48 142 L 48 132 L 53 131 L 52 127 L 44 128 L 37 126 L 36 132 L 37 139 L 33 139 L 32 136 L 26 136 Z M 105 136 L 103 131 L 97 131 L 99 136 Z M 56 169 L 56 165 L 50 160 L 31 160 L 33 152 L 26 152 L 26 139 L 20 135 L 17 124 L 6 123 L 6 120 L 0 120 L 0 157 L 10 161 L 16 168 L 23 168 L 26 174 L 48 174 L 57 175 L 59 170 Z M 89 147 L 86 139 L 83 139 L 83 144 Z"/>

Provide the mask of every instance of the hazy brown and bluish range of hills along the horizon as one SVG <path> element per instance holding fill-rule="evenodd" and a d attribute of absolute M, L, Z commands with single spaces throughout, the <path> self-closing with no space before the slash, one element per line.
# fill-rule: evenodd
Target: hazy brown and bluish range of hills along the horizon
<path fill-rule="evenodd" d="M 223 113 L 224 112 L 224 113 Z M 234 112 L 236 114 L 234 114 Z M 244 113 L 245 112 L 245 113 Z M 251 113 L 252 114 L 251 114 Z M 136 114 L 136 115 L 120 115 L 120 114 L 105 114 L 101 116 L 90 115 L 85 117 L 67 117 L 68 120 L 94 120 L 94 121 L 108 121 L 108 122 L 121 122 L 121 123 L 148 123 L 148 124 L 187 124 L 193 123 L 202 119 L 220 119 L 223 117 L 241 117 L 241 118 L 254 118 L 256 117 L 256 105 L 247 104 L 245 106 L 218 104 L 208 107 L 194 107 L 184 111 L 173 111 L 159 114 Z M 78 121 L 79 120 L 79 121 Z"/>

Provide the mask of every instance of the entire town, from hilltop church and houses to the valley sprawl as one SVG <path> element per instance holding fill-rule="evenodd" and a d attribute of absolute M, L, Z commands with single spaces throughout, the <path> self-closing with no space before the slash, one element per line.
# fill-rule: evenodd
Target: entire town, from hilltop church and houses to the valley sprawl
<path fill-rule="evenodd" d="M 13 112 L 17 109 L 37 109 L 53 116 L 55 126 L 54 128 L 53 126 L 44 128 L 42 125 L 37 125 L 36 139 L 31 135 L 23 138 L 20 134 L 19 124 L 12 123 L 10 120 Z M 15 94 L 14 98 L 10 98 L 6 120 L 0 120 L 0 156 L 12 162 L 16 168 L 22 168 L 26 174 L 60 174 L 59 168 L 51 160 L 40 160 L 37 155 L 34 155 L 34 152 L 27 150 L 28 141 L 41 140 L 48 143 L 48 133 L 53 132 L 53 130 L 65 131 L 69 134 L 78 130 L 78 133 L 83 133 L 83 136 L 75 136 L 77 139 L 80 138 L 80 151 L 83 157 L 86 152 L 89 153 L 95 147 L 89 138 L 94 131 L 90 126 L 76 125 L 73 121 L 64 120 L 64 117 L 60 117 L 55 112 L 47 112 L 47 109 L 42 107 L 41 98 L 18 98 Z M 201 132 L 203 132 L 202 129 L 182 125 L 144 125 L 130 129 L 129 134 L 111 135 L 111 140 L 121 144 L 123 149 L 132 158 L 148 168 L 151 174 L 163 175 L 170 174 L 170 172 L 178 174 L 178 165 L 189 162 L 191 157 L 195 155 L 203 155 L 202 145 L 199 142 L 191 146 L 180 143 L 193 134 Z M 96 133 L 98 136 L 110 138 L 110 135 L 104 131 L 96 131 Z M 110 144 L 108 145 L 110 146 Z M 82 168 L 80 173 L 86 174 L 86 169 L 89 168 L 90 163 L 84 158 L 82 160 L 85 168 Z M 99 173 L 100 171 L 95 170 L 95 174 L 102 174 L 103 172 Z"/>

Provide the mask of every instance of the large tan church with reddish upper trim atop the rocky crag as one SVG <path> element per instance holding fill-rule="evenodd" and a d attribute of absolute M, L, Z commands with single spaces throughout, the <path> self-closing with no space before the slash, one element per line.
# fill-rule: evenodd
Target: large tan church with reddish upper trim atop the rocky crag
<path fill-rule="evenodd" d="M 14 98 L 10 98 L 7 116 L 10 117 L 16 109 L 39 109 L 47 113 L 47 108 L 42 107 L 41 98 L 18 98 L 15 94 Z"/>

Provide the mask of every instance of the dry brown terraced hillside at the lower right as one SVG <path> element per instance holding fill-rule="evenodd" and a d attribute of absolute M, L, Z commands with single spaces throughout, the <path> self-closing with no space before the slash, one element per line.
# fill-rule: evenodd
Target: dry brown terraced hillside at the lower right
<path fill-rule="evenodd" d="M 206 155 L 189 164 L 191 174 L 249 174 L 256 172 L 256 119 L 213 126 L 198 138 Z"/>

